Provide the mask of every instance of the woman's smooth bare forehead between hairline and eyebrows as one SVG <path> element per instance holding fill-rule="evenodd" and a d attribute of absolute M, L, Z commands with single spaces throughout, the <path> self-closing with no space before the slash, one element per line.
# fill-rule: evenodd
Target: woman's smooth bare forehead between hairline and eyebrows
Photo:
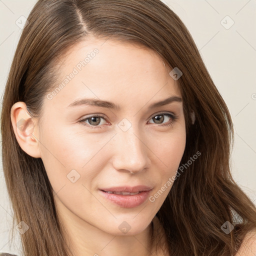
<path fill-rule="evenodd" d="M 170 67 L 153 50 L 117 40 L 90 39 L 73 45 L 59 59 L 50 104 L 67 107 L 74 99 L 94 97 L 122 103 L 180 95 Z M 46 102 L 47 103 L 47 102 Z"/>

